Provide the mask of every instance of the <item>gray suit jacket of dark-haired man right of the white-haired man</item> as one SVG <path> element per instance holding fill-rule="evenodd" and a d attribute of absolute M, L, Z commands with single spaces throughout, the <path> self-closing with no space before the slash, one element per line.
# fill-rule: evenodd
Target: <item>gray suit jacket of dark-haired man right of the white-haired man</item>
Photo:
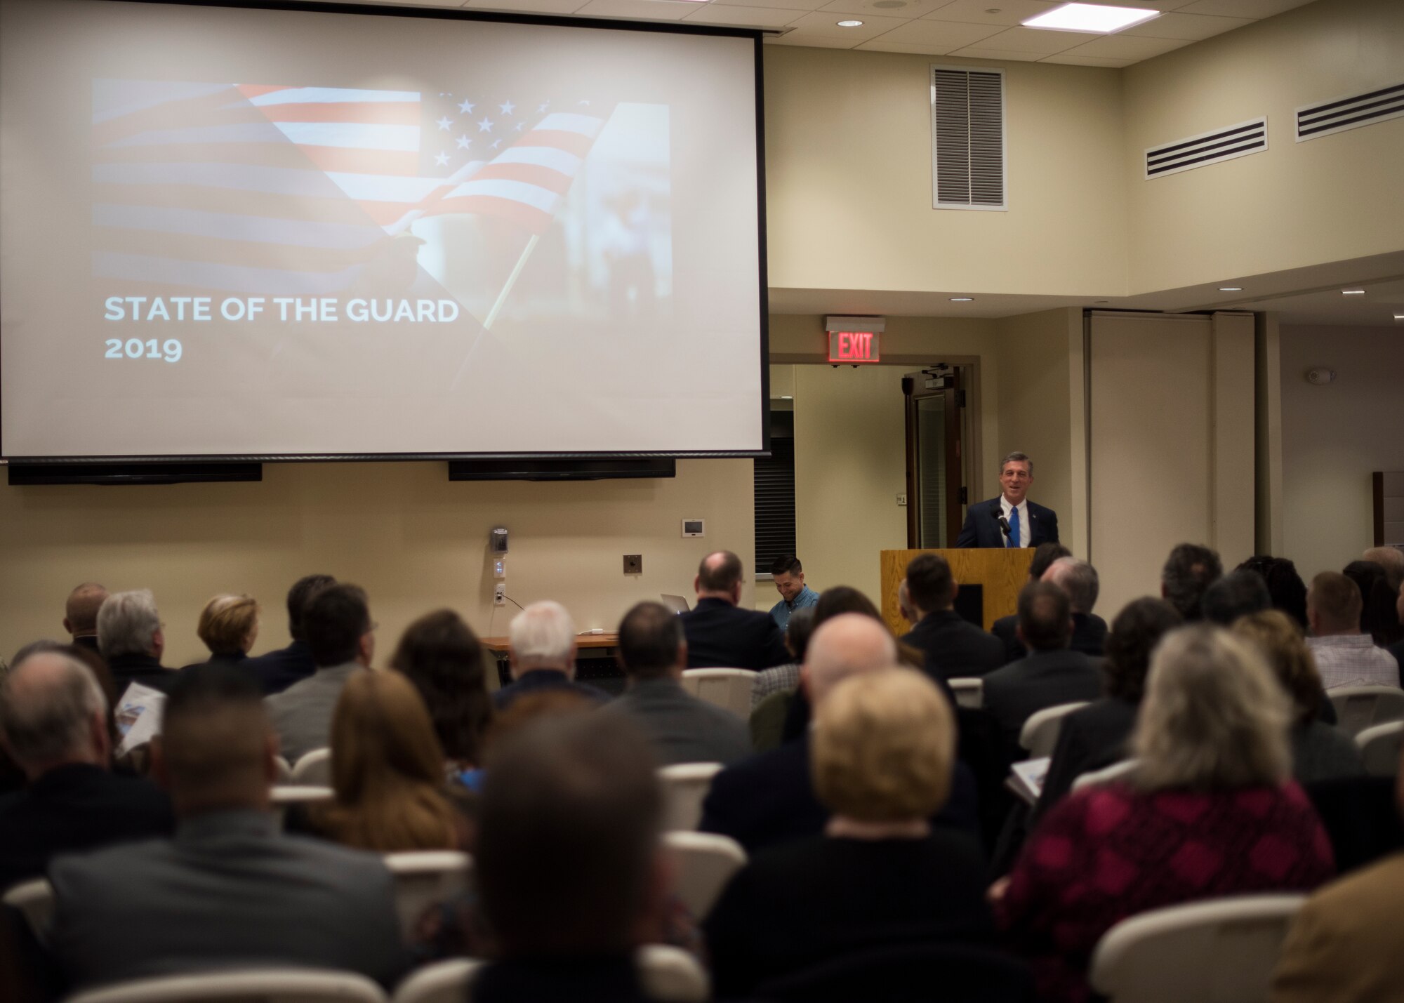
<path fill-rule="evenodd" d="M 734 763 L 751 754 L 746 723 L 685 693 L 671 678 L 630 683 L 604 714 L 630 716 L 653 742 L 658 763 Z"/>

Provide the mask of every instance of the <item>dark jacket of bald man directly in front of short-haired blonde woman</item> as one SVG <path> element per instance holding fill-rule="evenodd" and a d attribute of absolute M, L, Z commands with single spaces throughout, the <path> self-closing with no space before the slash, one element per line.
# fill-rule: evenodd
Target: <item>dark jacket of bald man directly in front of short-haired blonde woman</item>
<path fill-rule="evenodd" d="M 698 829 L 730 836 L 750 854 L 765 846 L 820 836 L 827 822 L 828 809 L 814 795 L 810 778 L 806 733 L 722 770 L 702 801 Z M 956 763 L 951 801 L 934 822 L 979 837 L 974 777 L 963 763 Z"/>

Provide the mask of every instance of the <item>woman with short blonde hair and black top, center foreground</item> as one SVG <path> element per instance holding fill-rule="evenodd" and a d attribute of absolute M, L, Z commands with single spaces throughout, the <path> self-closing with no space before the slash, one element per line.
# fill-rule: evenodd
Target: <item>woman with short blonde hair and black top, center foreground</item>
<path fill-rule="evenodd" d="M 814 792 L 831 816 L 757 853 L 712 909 L 716 995 L 767 999 L 767 981 L 873 948 L 993 940 L 979 844 L 928 820 L 953 761 L 951 707 L 921 673 L 840 681 L 814 715 Z"/>

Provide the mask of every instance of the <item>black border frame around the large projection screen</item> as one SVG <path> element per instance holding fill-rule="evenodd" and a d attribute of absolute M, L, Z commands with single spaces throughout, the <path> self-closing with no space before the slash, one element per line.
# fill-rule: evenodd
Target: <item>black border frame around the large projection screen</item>
<path fill-rule="evenodd" d="M 300 11 L 309 14 L 358 14 L 364 17 L 411 17 L 442 21 L 486 21 L 505 24 L 539 24 L 563 28 L 591 28 L 607 31 L 642 31 L 671 35 L 720 35 L 750 38 L 754 49 L 755 73 L 755 222 L 760 281 L 760 367 L 761 367 L 761 447 L 758 450 L 644 450 L 644 451 L 541 451 L 541 452 L 300 452 L 300 454 L 95 454 L 63 457 L 27 457 L 0 454 L 0 465 L 69 465 L 69 464 L 316 464 L 316 462 L 406 462 L 406 461 L 473 461 L 473 459 L 605 459 L 605 458 L 665 458 L 675 459 L 754 459 L 771 455 L 771 367 L 769 367 L 769 274 L 765 253 L 765 90 L 761 44 L 762 28 L 734 28 L 710 24 L 681 24 L 675 21 L 630 21 L 588 18 L 555 14 L 524 14 L 517 11 L 480 11 L 444 7 L 388 7 L 359 3 L 312 3 L 309 0 L 90 0 L 93 3 L 142 3 L 160 7 L 219 7 L 241 10 Z M 3 334 L 0 334 L 3 337 Z"/>

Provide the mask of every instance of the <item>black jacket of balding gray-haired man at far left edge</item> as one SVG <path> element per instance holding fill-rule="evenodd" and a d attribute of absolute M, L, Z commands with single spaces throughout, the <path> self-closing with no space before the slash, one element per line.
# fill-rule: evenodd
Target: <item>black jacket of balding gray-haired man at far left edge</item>
<path fill-rule="evenodd" d="M 73 763 L 0 799 L 0 891 L 41 878 L 59 853 L 170 836 L 176 816 L 156 784 Z"/>

